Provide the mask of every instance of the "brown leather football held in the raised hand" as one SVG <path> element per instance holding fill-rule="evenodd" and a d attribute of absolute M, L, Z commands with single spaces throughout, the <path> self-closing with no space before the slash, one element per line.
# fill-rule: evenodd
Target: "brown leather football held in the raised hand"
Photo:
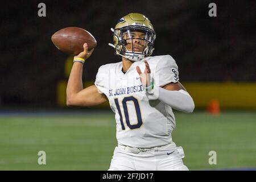
<path fill-rule="evenodd" d="M 88 44 L 88 51 L 97 46 L 97 41 L 90 32 L 79 27 L 67 27 L 52 35 L 52 43 L 68 54 L 78 55 L 84 51 L 84 43 Z"/>

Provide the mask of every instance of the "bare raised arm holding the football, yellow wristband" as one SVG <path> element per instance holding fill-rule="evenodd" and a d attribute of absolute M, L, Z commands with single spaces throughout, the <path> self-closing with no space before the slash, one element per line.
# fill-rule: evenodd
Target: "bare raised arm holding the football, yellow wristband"
<path fill-rule="evenodd" d="M 88 46 L 84 44 L 84 51 L 75 57 L 88 59 L 92 51 L 87 51 Z M 83 89 L 82 86 L 83 64 L 73 63 L 67 85 L 67 106 L 94 106 L 106 102 L 108 99 L 104 94 L 98 93 L 95 85 Z"/>

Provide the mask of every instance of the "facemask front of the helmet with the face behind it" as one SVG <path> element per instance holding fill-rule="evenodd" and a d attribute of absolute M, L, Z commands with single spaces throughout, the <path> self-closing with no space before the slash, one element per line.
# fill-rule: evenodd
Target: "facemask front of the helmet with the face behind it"
<path fill-rule="evenodd" d="M 116 53 L 131 61 L 142 60 L 154 51 L 155 32 L 143 26 L 127 26 L 114 30 Z"/>

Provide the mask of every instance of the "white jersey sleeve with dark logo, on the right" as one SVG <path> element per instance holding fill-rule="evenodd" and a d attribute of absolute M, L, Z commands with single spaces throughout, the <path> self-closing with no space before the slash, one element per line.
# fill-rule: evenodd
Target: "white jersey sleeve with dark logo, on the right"
<path fill-rule="evenodd" d="M 156 65 L 158 74 L 158 85 L 176 83 L 179 81 L 179 71 L 175 60 L 170 55 L 163 56 Z"/>

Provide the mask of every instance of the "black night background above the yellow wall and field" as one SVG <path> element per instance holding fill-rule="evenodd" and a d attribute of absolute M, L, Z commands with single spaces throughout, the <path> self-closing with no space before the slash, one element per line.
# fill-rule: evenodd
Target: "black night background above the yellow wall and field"
<path fill-rule="evenodd" d="M 46 17 L 38 3 L 46 3 Z M 217 17 L 208 16 L 210 2 Z M 90 31 L 97 48 L 84 81 L 120 61 L 110 31 L 128 13 L 142 13 L 156 31 L 154 55 L 170 54 L 180 81 L 255 82 L 256 1 L 6 1 L 1 5 L 0 106 L 56 106 L 56 84 L 67 79 L 67 55 L 51 42 L 64 27 Z"/>

